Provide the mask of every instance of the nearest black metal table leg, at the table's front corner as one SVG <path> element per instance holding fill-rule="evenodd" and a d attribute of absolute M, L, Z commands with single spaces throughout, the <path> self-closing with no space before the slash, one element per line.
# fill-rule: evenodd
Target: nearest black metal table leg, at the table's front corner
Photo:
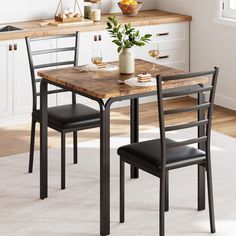
<path fill-rule="evenodd" d="M 110 103 L 99 103 L 100 126 L 100 234 L 110 234 Z"/>

